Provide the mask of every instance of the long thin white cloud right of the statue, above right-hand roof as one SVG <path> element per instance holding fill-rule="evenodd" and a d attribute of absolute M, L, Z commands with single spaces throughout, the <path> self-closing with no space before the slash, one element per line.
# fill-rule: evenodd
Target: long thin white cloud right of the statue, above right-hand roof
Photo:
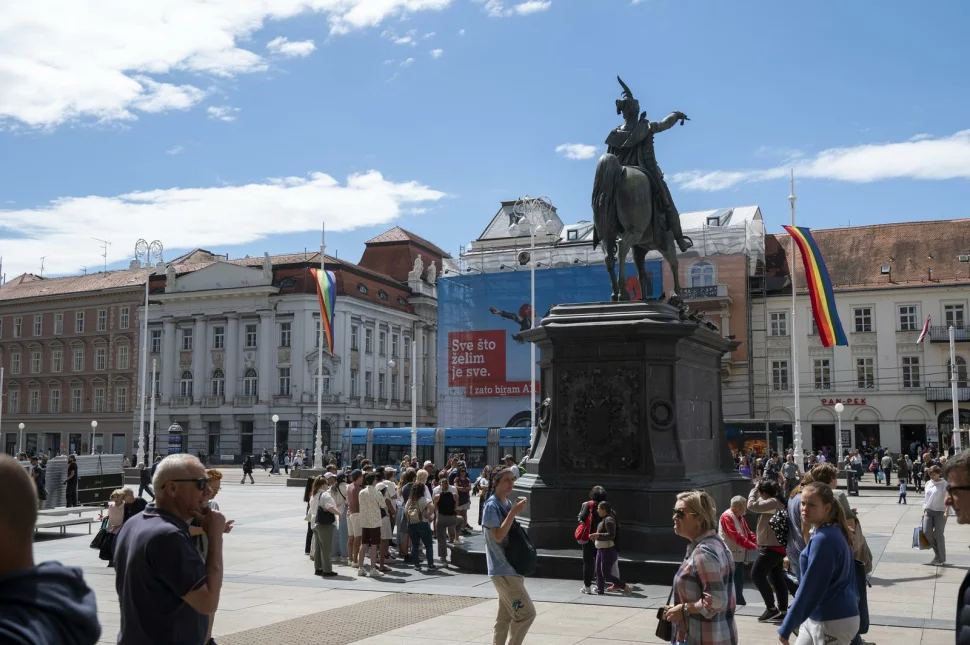
<path fill-rule="evenodd" d="M 947 137 L 917 135 L 909 141 L 829 148 L 811 159 L 761 170 L 680 172 L 671 179 L 686 190 L 717 191 L 742 183 L 795 175 L 869 183 L 886 179 L 970 179 L 970 130 Z"/>

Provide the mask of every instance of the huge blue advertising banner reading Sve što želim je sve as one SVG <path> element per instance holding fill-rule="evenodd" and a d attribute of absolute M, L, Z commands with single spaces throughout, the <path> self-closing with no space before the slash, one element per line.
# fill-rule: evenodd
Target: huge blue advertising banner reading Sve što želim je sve
<path fill-rule="evenodd" d="M 659 297 L 661 263 L 646 264 L 652 278 L 650 296 Z M 626 271 L 627 289 L 639 298 L 632 263 Z M 555 305 L 603 302 L 609 296 L 609 276 L 602 264 L 539 269 L 536 323 Z M 521 332 L 531 328 L 531 315 L 528 267 L 438 281 L 439 425 L 529 425 L 531 352 Z"/>

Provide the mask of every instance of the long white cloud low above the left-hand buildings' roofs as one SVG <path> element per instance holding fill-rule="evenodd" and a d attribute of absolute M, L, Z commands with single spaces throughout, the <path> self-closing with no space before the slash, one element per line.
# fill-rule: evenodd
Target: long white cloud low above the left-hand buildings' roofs
<path fill-rule="evenodd" d="M 351 175 L 345 184 L 324 173 L 285 177 L 241 186 L 168 188 L 114 197 L 60 197 L 31 209 L 0 209 L 7 275 L 34 271 L 47 256 L 46 269 L 57 275 L 101 262 L 92 235 L 112 242 L 108 262 L 130 257 L 145 222 L 165 222 L 160 233 L 168 249 L 248 244 L 269 235 L 320 230 L 348 231 L 386 224 L 412 207 L 446 195 L 418 182 L 392 182 L 371 170 Z M 171 254 L 170 254 L 171 255 Z"/>

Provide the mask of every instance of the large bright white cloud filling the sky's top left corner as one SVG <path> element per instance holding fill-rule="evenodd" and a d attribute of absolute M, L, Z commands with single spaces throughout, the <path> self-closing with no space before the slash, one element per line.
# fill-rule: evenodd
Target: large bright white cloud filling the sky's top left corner
<path fill-rule="evenodd" d="M 332 35 L 386 19 L 439 11 L 452 0 L 5 0 L 0 10 L 0 127 L 50 128 L 71 120 L 130 120 L 185 109 L 193 85 L 167 74 L 234 76 L 268 69 L 246 49 L 267 20 L 320 14 Z M 297 45 L 297 43 L 289 43 Z M 306 43 L 299 44 L 303 50 Z M 156 85 L 151 85 L 145 79 Z"/>

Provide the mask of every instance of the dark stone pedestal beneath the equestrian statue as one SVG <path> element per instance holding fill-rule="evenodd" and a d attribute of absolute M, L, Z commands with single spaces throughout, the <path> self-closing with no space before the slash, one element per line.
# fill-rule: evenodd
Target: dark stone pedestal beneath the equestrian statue
<path fill-rule="evenodd" d="M 721 357 L 737 343 L 646 302 L 560 305 L 522 336 L 538 345 L 544 408 L 513 497 L 529 500 L 519 520 L 538 549 L 578 548 L 576 515 L 596 485 L 621 552 L 677 559 L 677 493 L 704 489 L 720 511 L 747 494 L 721 414 Z"/>

